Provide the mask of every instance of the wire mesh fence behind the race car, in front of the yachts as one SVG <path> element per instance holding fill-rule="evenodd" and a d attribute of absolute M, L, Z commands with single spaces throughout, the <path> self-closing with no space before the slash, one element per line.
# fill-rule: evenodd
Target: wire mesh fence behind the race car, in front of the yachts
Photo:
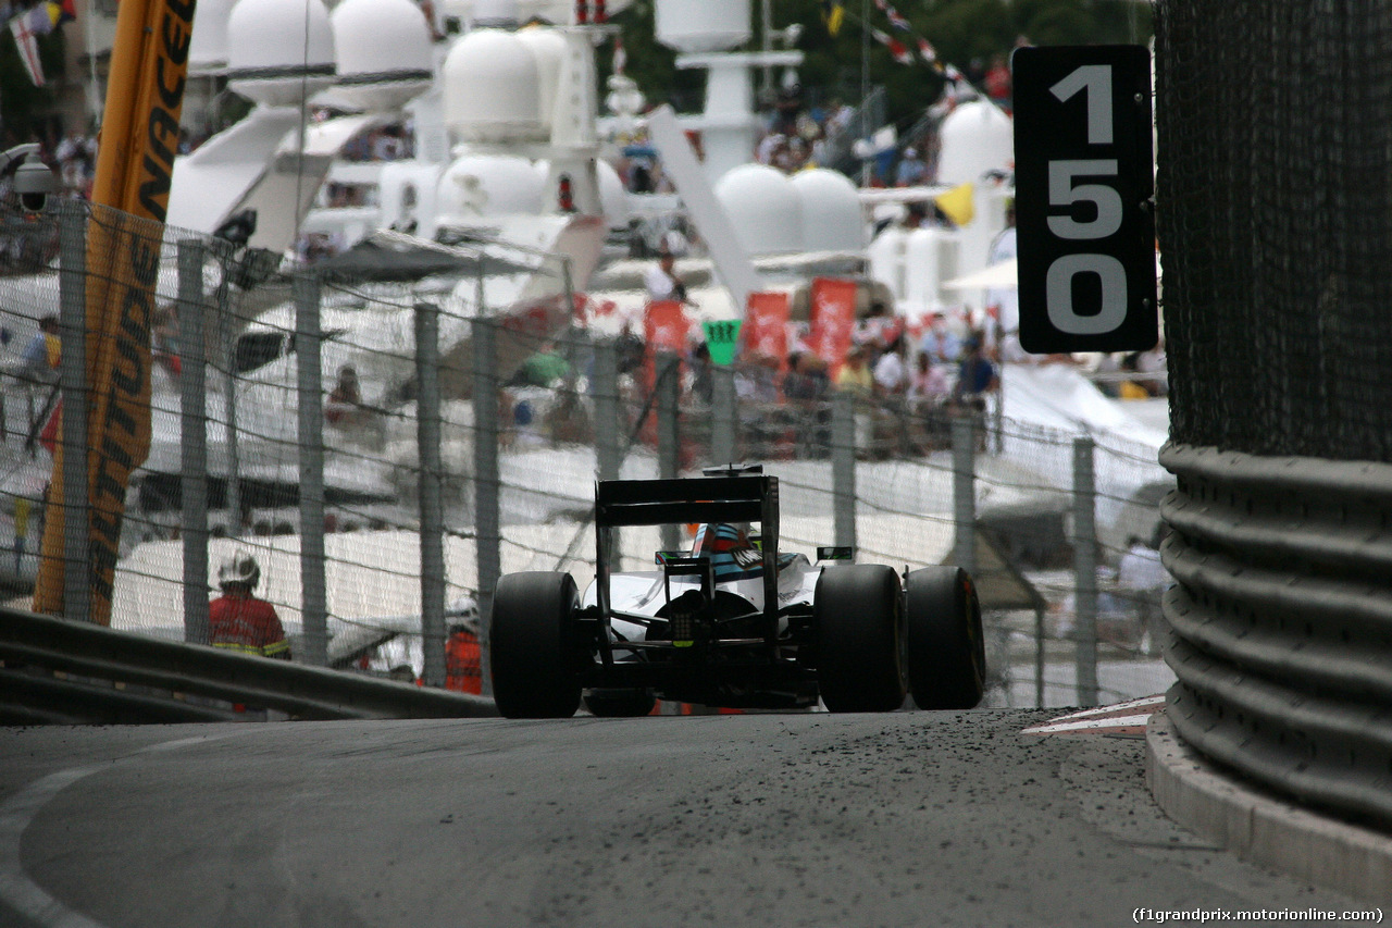
<path fill-rule="evenodd" d="M 96 220 L 68 208 L 39 222 L 57 235 Z M 1148 627 L 1158 585 L 1118 577 L 1128 539 L 1157 542 L 1169 478 L 1153 449 L 1004 419 L 997 404 L 969 422 L 898 397 L 788 400 L 764 362 L 653 357 L 571 293 L 557 255 L 386 237 L 369 261 L 287 274 L 224 240 L 166 229 L 157 244 L 150 451 L 127 493 L 116 628 L 206 640 L 217 567 L 245 550 L 296 659 L 440 686 L 451 616 L 472 599 L 486 617 L 501 573 L 589 582 L 596 478 L 759 461 L 781 481 L 788 550 L 849 543 L 895 569 L 970 566 L 991 702 L 1168 686 Z M 17 595 L 33 581 L 53 467 L 36 436 L 70 364 L 15 366 L 58 304 L 58 268 L 32 270 L 0 279 L 14 361 L 0 559 Z M 1082 539 L 1080 518 L 1097 525 Z M 618 567 L 651 569 L 657 549 L 689 541 L 625 529 Z"/>

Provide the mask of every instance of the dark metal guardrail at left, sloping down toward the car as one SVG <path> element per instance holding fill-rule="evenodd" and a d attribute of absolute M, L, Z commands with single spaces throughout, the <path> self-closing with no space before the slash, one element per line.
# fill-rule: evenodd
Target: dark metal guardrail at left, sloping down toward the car
<path fill-rule="evenodd" d="M 255 705 L 296 719 L 497 716 L 493 699 L 483 697 L 4 608 L 0 662 L 0 718 L 21 723 L 245 718 L 202 699 Z"/>

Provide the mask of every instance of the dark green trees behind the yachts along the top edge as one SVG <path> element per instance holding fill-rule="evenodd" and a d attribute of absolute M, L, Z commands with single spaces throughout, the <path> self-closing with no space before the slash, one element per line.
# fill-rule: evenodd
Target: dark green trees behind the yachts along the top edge
<path fill-rule="evenodd" d="M 1150 7 L 1134 0 L 899 0 L 894 3 L 913 26 L 912 33 L 894 29 L 874 3 L 846 0 L 845 22 L 838 35 L 827 33 L 821 0 L 771 0 L 774 29 L 793 22 L 803 32 L 798 49 L 806 56 L 799 68 L 809 102 L 827 103 L 839 98 L 855 105 L 860 99 L 862 15 L 870 25 L 915 49 L 917 36 L 937 49 L 938 60 L 966 71 L 973 59 L 988 65 L 997 54 L 1009 56 L 1018 38 L 1034 45 L 1144 43 L 1151 38 Z M 892 0 L 891 0 L 892 1 Z M 753 6 L 753 46 L 759 36 L 761 0 Z M 654 0 L 638 0 L 614 21 L 624 29 L 628 52 L 626 72 L 650 103 L 672 102 L 677 109 L 695 111 L 702 106 L 702 72 L 677 71 L 675 53 L 653 35 Z M 775 43 L 775 47 L 780 47 Z M 883 85 L 888 96 L 889 121 L 901 128 L 917 120 L 942 91 L 942 78 L 917 59 L 899 64 L 878 42 L 869 45 L 870 85 Z M 601 53 L 607 77 L 610 59 Z"/>

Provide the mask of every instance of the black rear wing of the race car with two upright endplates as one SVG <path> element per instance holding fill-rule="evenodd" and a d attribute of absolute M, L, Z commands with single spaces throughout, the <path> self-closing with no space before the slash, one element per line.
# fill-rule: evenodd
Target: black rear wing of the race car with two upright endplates
<path fill-rule="evenodd" d="M 766 609 L 778 602 L 778 478 L 763 474 L 656 481 L 600 481 L 594 485 L 596 599 L 610 614 L 614 529 L 679 523 L 754 523 L 763 535 Z"/>

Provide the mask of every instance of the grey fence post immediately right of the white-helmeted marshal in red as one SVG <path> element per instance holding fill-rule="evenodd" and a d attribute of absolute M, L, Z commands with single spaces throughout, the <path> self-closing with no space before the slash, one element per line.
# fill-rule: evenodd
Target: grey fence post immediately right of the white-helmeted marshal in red
<path fill-rule="evenodd" d="M 319 279 L 295 276 L 295 358 L 299 371 L 299 582 L 305 663 L 329 663 L 329 596 L 324 587 L 324 405 L 319 354 Z"/>

